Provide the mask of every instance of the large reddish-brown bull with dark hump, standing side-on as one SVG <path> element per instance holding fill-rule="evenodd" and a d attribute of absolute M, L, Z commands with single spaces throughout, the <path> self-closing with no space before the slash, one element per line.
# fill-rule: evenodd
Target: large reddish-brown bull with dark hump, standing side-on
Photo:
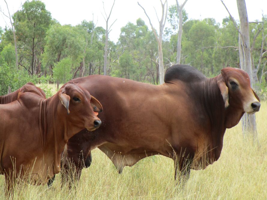
<path fill-rule="evenodd" d="M 105 108 L 98 130 L 82 130 L 67 143 L 67 160 L 78 168 L 78 179 L 83 166 L 79 159 L 96 147 L 119 172 L 160 154 L 174 160 L 175 179 L 177 173 L 187 179 L 190 169 L 205 169 L 219 159 L 226 128 L 238 124 L 244 112 L 253 114 L 260 107 L 248 74 L 232 67 L 206 78 L 191 66 L 174 65 L 162 85 L 101 75 L 72 81 Z"/>

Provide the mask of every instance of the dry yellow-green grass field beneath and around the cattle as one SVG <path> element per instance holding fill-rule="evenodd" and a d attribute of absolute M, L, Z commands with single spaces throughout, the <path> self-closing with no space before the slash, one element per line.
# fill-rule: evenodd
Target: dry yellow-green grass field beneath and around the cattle
<path fill-rule="evenodd" d="M 220 159 L 205 170 L 191 170 L 183 188 L 174 183 L 173 160 L 153 156 L 125 167 L 119 175 L 100 150 L 92 151 L 93 163 L 83 169 L 76 189 L 25 184 L 15 199 L 267 199 L 267 102 L 256 114 L 259 145 L 243 138 L 241 123 L 226 130 Z M 0 176 L 4 199 L 4 176 Z"/>

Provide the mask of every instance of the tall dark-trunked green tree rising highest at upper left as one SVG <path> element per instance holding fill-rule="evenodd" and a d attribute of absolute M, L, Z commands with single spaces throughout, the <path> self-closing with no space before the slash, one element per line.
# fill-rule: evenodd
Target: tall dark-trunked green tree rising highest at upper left
<path fill-rule="evenodd" d="M 14 13 L 16 17 L 16 37 L 19 46 L 19 65 L 36 74 L 41 67 L 46 31 L 51 22 L 51 13 L 38 0 L 25 1 L 22 9 Z M 29 66 L 29 67 L 28 67 Z"/>

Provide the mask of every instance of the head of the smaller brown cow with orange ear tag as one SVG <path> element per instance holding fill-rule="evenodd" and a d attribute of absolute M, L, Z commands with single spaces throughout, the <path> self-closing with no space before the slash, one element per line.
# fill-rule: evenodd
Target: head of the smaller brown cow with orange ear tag
<path fill-rule="evenodd" d="M 89 131 L 97 129 L 101 125 L 97 117 L 98 112 L 102 111 L 102 106 L 84 88 L 73 83 L 67 83 L 58 91 L 60 113 L 66 115 L 68 123 L 81 129 Z M 64 107 L 63 107 L 64 106 Z"/>

